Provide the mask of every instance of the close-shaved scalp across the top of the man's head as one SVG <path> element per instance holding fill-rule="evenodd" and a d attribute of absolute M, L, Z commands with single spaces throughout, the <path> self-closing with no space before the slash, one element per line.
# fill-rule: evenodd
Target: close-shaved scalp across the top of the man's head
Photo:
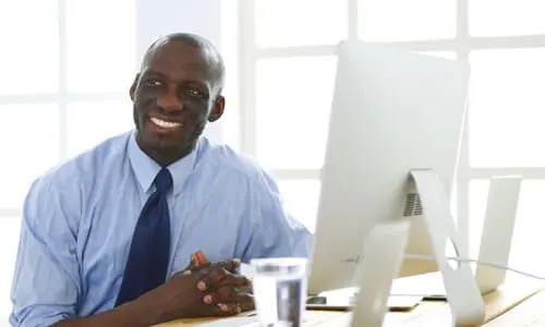
<path fill-rule="evenodd" d="M 144 55 L 144 59 L 142 60 L 141 71 L 144 71 L 149 63 L 153 61 L 155 56 L 167 45 L 172 43 L 183 43 L 185 45 L 190 45 L 195 47 L 202 52 L 203 58 L 205 58 L 206 63 L 208 64 L 211 84 L 214 86 L 214 90 L 217 94 L 220 94 L 223 88 L 226 68 L 223 63 L 223 59 L 216 47 L 204 37 L 198 35 L 194 35 L 191 33 L 173 33 L 157 39 L 149 48 L 146 50 Z"/>

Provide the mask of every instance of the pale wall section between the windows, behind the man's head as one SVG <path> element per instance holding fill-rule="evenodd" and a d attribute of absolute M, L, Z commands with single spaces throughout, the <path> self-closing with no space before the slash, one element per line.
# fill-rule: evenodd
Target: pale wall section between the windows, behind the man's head
<path fill-rule="evenodd" d="M 229 2 L 227 5 L 221 4 L 226 1 Z M 235 58 L 233 51 L 238 46 L 233 39 L 237 27 L 232 24 L 235 3 L 234 0 L 136 0 L 137 62 L 141 62 L 147 47 L 165 34 L 189 32 L 201 35 L 209 39 L 226 60 L 228 71 L 226 93 L 233 95 L 230 98 L 226 96 L 227 109 L 235 110 L 235 92 L 232 92 L 235 74 L 230 74 L 237 70 L 233 63 Z M 238 129 L 234 124 L 235 117 L 233 111 L 230 114 L 226 113 L 226 119 L 209 124 L 205 134 L 217 142 L 237 142 L 233 138 L 237 136 L 233 136 L 232 132 L 226 132 L 227 124 L 230 131 Z"/>

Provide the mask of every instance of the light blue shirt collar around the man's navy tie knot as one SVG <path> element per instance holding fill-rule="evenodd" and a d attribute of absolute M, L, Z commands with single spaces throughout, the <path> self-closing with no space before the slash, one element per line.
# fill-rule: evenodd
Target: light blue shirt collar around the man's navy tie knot
<path fill-rule="evenodd" d="M 142 190 L 145 193 L 149 193 L 152 190 L 155 190 L 153 183 L 161 167 L 140 148 L 136 143 L 136 131 L 133 131 L 129 140 L 129 159 Z M 167 167 L 172 174 L 174 195 L 178 195 L 182 191 L 185 180 L 193 171 L 196 153 L 197 150 L 194 149 L 187 156 Z"/>

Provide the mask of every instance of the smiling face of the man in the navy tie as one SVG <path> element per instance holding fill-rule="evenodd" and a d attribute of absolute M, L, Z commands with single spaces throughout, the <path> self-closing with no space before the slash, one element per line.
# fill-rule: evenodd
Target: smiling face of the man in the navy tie
<path fill-rule="evenodd" d="M 214 76 L 196 47 L 171 41 L 150 57 L 131 87 L 140 145 L 162 157 L 181 157 L 219 119 L 223 98 L 213 89 Z"/>

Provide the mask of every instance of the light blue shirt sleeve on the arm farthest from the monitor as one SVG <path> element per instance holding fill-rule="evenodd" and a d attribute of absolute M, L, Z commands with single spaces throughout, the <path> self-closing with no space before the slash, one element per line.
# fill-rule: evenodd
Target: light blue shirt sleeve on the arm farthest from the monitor
<path fill-rule="evenodd" d="M 61 197 L 59 187 L 38 180 L 25 199 L 11 291 L 14 327 L 51 326 L 75 315 L 81 279 L 71 221 L 77 197 Z"/>

